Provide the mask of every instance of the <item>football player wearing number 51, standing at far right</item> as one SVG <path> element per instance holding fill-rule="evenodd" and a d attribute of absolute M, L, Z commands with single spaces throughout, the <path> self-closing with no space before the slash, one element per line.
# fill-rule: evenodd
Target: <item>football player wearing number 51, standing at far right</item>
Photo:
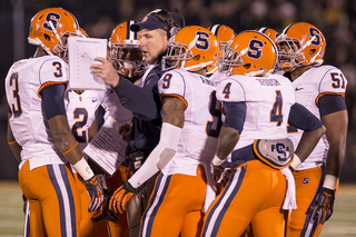
<path fill-rule="evenodd" d="M 323 140 L 293 172 L 297 210 L 288 215 L 287 236 L 319 236 L 333 214 L 335 190 L 344 162 L 347 135 L 345 90 L 347 80 L 336 67 L 323 65 L 326 41 L 307 22 L 286 27 L 276 40 L 279 68 L 293 81 L 296 101 L 308 108 L 326 127 Z M 288 127 L 294 144 L 301 131 Z"/>

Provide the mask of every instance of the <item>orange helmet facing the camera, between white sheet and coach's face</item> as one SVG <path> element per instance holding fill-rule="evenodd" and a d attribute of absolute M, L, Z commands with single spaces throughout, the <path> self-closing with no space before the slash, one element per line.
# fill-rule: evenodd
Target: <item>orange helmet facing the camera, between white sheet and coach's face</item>
<path fill-rule="evenodd" d="M 109 40 L 109 60 L 119 75 L 135 82 L 142 77 L 148 65 L 142 60 L 138 32 L 130 30 L 134 23 L 137 21 L 125 21 L 112 30 Z"/>

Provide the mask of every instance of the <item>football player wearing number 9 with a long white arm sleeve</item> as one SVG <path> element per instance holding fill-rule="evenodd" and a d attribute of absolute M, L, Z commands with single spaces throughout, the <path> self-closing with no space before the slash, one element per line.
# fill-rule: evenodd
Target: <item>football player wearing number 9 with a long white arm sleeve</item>
<path fill-rule="evenodd" d="M 218 59 L 219 43 L 206 28 L 182 28 L 168 42 L 162 62 L 171 67 L 159 80 L 162 128 L 144 166 L 111 197 L 109 208 L 126 210 L 127 201 L 159 172 L 141 221 L 141 236 L 199 236 L 204 211 L 215 198 L 210 171 L 221 127 L 215 85 L 206 77 Z M 170 70 L 172 69 L 172 70 Z"/>

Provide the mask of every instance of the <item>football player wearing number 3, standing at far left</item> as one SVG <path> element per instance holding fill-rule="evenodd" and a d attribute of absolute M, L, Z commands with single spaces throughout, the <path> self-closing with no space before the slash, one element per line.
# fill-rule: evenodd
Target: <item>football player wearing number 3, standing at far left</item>
<path fill-rule="evenodd" d="M 80 197 L 69 164 L 85 180 L 91 200 L 88 210 L 99 209 L 103 199 L 66 116 L 69 36 L 82 37 L 70 12 L 39 11 L 28 37 L 38 46 L 34 57 L 14 62 L 6 78 L 8 141 L 21 159 L 19 182 L 30 205 L 31 236 L 80 236 Z"/>

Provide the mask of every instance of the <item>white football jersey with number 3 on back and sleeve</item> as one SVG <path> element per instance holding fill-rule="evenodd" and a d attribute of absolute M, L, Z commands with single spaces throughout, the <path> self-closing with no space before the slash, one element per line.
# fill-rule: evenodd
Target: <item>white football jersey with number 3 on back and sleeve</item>
<path fill-rule="evenodd" d="M 67 83 L 69 67 L 57 56 L 17 61 L 6 78 L 6 93 L 12 116 L 9 120 L 17 142 L 22 146 L 20 166 L 30 159 L 30 169 L 66 161 L 51 136 L 42 110 L 40 90 Z"/>

